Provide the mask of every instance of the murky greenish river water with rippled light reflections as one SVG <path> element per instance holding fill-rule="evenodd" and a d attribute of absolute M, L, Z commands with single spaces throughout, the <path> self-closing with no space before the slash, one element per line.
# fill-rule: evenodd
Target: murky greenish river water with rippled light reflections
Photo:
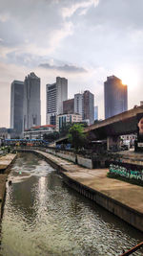
<path fill-rule="evenodd" d="M 141 232 L 68 188 L 34 154 L 19 154 L 9 180 L 2 256 L 119 255 L 143 240 Z"/>

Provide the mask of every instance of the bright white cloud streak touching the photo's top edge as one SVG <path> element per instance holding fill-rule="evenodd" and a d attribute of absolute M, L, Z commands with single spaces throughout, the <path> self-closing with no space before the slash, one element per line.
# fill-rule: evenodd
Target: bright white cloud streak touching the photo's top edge
<path fill-rule="evenodd" d="M 64 7 L 62 8 L 62 16 L 64 18 L 71 17 L 74 12 L 80 10 L 79 12 L 80 15 L 86 14 L 92 6 L 96 7 L 99 3 L 99 0 L 89 0 L 89 1 L 80 1 L 80 2 L 75 2 L 72 4 L 70 7 Z"/>

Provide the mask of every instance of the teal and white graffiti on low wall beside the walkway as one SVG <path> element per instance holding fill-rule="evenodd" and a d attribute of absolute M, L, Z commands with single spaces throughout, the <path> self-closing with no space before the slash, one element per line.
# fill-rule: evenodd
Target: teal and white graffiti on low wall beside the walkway
<path fill-rule="evenodd" d="M 120 176 L 124 176 L 127 178 L 135 178 L 135 179 L 143 181 L 143 170 L 142 171 L 133 171 L 133 170 L 128 170 L 122 166 L 111 164 L 110 165 L 110 174 L 120 175 Z"/>

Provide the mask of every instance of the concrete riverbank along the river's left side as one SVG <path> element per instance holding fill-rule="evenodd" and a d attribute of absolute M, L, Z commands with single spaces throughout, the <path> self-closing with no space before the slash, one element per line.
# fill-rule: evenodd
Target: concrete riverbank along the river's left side
<path fill-rule="evenodd" d="M 15 153 L 8 153 L 0 157 L 0 218 L 2 217 L 3 212 L 3 204 L 6 195 L 6 182 L 10 173 L 10 166 L 15 158 Z"/>

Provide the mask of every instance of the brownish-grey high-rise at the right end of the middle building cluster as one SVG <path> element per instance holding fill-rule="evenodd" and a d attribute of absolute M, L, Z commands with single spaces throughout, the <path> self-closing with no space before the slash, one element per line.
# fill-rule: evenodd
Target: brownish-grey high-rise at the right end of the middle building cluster
<path fill-rule="evenodd" d="M 90 125 L 94 122 L 94 96 L 90 91 L 83 93 L 84 120 L 90 120 Z"/>

